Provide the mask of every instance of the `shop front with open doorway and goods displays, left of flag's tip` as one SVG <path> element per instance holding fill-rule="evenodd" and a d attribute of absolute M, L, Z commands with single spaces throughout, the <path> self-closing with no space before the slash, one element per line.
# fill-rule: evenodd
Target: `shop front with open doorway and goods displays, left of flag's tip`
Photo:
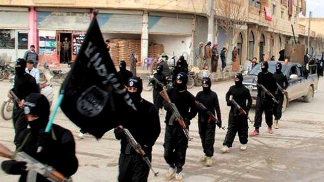
<path fill-rule="evenodd" d="M 36 10 L 39 62 L 54 67 L 73 62 L 90 24 L 90 10 Z"/>

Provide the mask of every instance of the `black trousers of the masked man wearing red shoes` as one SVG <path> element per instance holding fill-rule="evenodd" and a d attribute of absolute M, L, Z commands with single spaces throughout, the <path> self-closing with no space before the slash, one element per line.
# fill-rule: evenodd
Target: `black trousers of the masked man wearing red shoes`
<path fill-rule="evenodd" d="M 261 98 L 261 96 L 257 96 L 256 101 L 256 110 L 255 110 L 255 118 L 254 118 L 254 127 L 259 129 L 262 123 L 262 113 L 266 114 L 266 123 L 268 127 L 272 127 L 273 124 L 273 100 L 269 97 Z"/>

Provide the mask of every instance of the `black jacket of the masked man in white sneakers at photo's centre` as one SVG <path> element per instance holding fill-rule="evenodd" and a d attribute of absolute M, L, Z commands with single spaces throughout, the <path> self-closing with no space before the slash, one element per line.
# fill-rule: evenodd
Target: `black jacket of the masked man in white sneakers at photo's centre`
<path fill-rule="evenodd" d="M 197 114 L 197 108 L 194 96 L 189 91 L 176 91 L 174 88 L 169 89 L 167 94 L 172 103 L 175 104 L 180 115 L 185 119 L 187 125 L 190 125 L 190 120 Z M 172 109 L 169 104 L 163 101 L 164 109 L 166 110 L 165 123 L 169 124 L 169 120 L 172 115 Z M 173 121 L 173 125 L 179 126 L 176 120 Z"/>

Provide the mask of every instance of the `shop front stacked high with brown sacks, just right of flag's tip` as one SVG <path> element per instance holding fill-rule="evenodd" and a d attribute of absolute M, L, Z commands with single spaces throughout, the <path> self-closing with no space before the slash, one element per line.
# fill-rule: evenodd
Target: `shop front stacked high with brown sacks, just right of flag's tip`
<path fill-rule="evenodd" d="M 126 61 L 130 65 L 130 54 L 141 60 L 141 34 L 143 11 L 99 10 L 97 15 L 105 40 L 109 40 L 110 56 L 115 65 Z"/>

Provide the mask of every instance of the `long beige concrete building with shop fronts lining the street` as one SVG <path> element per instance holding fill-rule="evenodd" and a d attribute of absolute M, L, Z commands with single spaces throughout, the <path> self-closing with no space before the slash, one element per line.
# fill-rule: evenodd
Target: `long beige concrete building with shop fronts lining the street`
<path fill-rule="evenodd" d="M 222 1 L 240 3 L 239 7 L 246 12 L 243 23 L 231 25 L 232 32 L 225 31 L 219 23 L 224 18 L 219 11 Z M 104 39 L 138 41 L 140 46 L 136 50 L 142 61 L 153 56 L 149 55 L 150 45 L 162 44 L 168 55 L 184 55 L 191 62 L 193 49 L 199 42 L 207 41 L 217 43 L 219 52 L 222 47 L 229 48 L 228 65 L 233 46 L 239 49 L 241 63 L 262 54 L 278 58 L 279 50 L 292 41 L 291 24 L 296 36 L 301 34 L 299 13 L 303 1 L 0 0 L 0 54 L 6 53 L 15 60 L 33 44 L 40 53 L 40 61 L 58 66 L 62 62 L 60 43 L 68 38 L 73 60 L 96 8 Z"/>

